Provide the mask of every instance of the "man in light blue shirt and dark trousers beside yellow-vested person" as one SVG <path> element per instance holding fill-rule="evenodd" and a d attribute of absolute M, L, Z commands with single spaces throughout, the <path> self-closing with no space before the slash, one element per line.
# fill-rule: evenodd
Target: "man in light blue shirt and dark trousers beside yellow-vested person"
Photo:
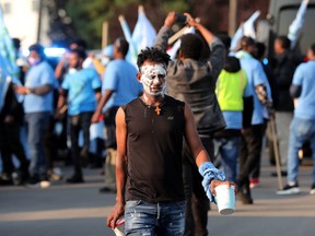
<path fill-rule="evenodd" d="M 249 188 L 249 176 L 255 166 L 260 167 L 265 116 L 271 106 L 271 91 L 261 63 L 253 57 L 255 40 L 252 37 L 241 38 L 241 50 L 235 55 L 245 70 L 248 86 L 254 99 L 254 110 L 249 127 L 243 127 L 240 150 L 240 174 L 237 176 L 238 197 L 244 204 L 253 204 Z M 268 108 L 268 110 L 267 110 Z"/>

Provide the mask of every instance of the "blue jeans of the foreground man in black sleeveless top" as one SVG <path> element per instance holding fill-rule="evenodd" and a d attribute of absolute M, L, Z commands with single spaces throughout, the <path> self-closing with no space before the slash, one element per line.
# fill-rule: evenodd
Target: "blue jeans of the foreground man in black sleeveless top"
<path fill-rule="evenodd" d="M 125 221 L 126 236 L 183 236 L 185 201 L 168 203 L 127 201 Z"/>

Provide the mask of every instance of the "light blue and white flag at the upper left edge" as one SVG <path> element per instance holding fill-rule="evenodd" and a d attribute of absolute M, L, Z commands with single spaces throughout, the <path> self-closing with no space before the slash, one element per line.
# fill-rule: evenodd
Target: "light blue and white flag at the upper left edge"
<path fill-rule="evenodd" d="M 15 81 L 19 78 L 19 67 L 15 63 L 15 49 L 12 38 L 9 35 L 9 31 L 3 21 L 2 8 L 0 7 L 0 57 L 1 69 L 3 72 L 12 76 Z"/>

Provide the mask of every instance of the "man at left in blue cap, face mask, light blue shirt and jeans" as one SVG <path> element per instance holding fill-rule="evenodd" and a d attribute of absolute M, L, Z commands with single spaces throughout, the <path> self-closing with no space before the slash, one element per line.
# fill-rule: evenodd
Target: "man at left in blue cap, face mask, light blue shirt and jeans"
<path fill-rule="evenodd" d="M 24 96 L 24 113 L 27 123 L 27 141 L 31 152 L 30 185 L 49 187 L 47 160 L 44 152 L 43 135 L 46 122 L 52 113 L 52 90 L 55 74 L 46 61 L 44 47 L 34 44 L 27 58 L 31 66 L 25 75 L 25 85 L 16 91 Z"/>

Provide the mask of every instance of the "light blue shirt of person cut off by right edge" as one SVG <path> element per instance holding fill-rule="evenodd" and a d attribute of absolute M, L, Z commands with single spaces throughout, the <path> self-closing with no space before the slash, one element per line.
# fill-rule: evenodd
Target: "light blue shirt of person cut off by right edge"
<path fill-rule="evenodd" d="M 294 116 L 315 120 L 315 61 L 300 64 L 293 75 L 292 84 L 302 86 L 302 93 L 298 98 Z"/>

